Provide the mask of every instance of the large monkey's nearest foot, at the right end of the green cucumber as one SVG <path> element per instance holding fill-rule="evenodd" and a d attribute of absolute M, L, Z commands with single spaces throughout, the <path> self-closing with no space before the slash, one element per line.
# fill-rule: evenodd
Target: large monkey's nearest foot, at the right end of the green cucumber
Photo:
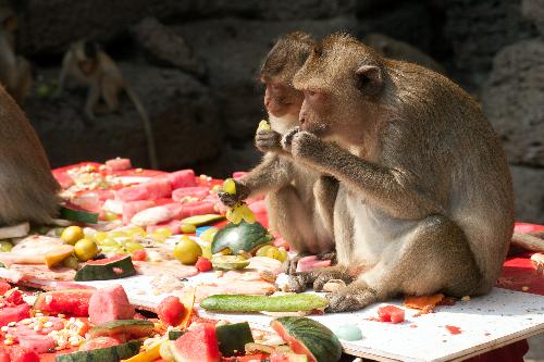
<path fill-rule="evenodd" d="M 327 295 L 326 299 L 329 307 L 325 312 L 329 313 L 357 311 L 378 301 L 375 290 L 361 287 L 357 283 Z"/>

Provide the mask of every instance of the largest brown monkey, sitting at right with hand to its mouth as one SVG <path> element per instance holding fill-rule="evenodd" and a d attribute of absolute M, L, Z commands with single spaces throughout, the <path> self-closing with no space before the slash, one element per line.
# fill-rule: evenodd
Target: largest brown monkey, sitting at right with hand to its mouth
<path fill-rule="evenodd" d="M 330 311 L 399 294 L 489 292 L 512 237 L 514 201 L 500 141 L 478 103 L 448 78 L 346 35 L 324 38 L 294 85 L 305 95 L 304 130 L 282 145 L 339 182 L 338 264 L 289 286 L 351 282 L 329 296 Z"/>

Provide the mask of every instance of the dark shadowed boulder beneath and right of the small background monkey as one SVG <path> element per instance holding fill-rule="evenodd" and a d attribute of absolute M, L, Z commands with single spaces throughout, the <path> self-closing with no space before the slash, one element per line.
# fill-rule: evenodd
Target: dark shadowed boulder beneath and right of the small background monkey
<path fill-rule="evenodd" d="M 177 70 L 128 63 L 120 67 L 149 113 L 161 170 L 194 166 L 218 155 L 221 125 L 207 87 Z M 40 73 L 52 77 L 51 71 Z M 60 99 L 33 97 L 25 104 L 52 166 L 118 155 L 148 166 L 143 125 L 128 99 L 122 97 L 118 114 L 97 112 L 96 120 L 85 121 L 85 89 L 69 89 Z"/>

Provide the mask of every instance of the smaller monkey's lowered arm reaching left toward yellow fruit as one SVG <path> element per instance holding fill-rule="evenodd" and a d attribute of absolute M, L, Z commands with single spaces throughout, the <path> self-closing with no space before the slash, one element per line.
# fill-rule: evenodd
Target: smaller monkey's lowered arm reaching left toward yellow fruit
<path fill-rule="evenodd" d="M 274 153 L 267 153 L 263 161 L 251 172 L 236 180 L 236 195 L 220 192 L 221 201 L 232 207 L 236 202 L 279 189 L 287 185 L 293 175 L 293 164 Z"/>

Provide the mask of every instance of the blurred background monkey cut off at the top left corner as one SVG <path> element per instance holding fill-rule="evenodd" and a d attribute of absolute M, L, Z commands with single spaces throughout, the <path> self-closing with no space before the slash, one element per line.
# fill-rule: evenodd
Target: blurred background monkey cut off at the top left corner
<path fill-rule="evenodd" d="M 18 104 L 23 104 L 32 88 L 30 63 L 15 53 L 17 15 L 0 2 L 0 83 Z"/>

